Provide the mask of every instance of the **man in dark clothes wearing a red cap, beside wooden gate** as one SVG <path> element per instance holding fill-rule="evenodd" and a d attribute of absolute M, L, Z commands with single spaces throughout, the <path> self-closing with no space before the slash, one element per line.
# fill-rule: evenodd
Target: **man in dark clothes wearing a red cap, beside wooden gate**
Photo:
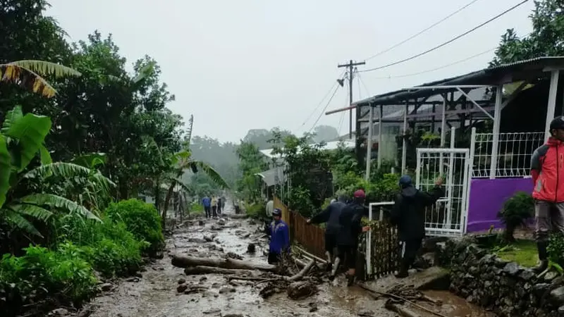
<path fill-rule="evenodd" d="M 339 216 L 340 231 L 337 236 L 337 259 L 333 264 L 331 278 L 334 278 L 338 265 L 341 261 L 345 261 L 347 273 L 347 285 L 353 285 L 355 282 L 356 260 L 358 248 L 358 236 L 361 232 L 367 232 L 370 227 L 362 227 L 362 216 L 366 213 L 364 208 L 364 190 L 358 189 L 353 195 L 353 201 L 343 208 Z"/>

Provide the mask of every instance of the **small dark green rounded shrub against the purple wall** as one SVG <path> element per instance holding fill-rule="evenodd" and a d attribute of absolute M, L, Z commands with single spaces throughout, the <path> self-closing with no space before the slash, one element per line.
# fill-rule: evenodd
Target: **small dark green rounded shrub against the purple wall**
<path fill-rule="evenodd" d="M 498 217 L 505 224 L 505 240 L 515 241 L 513 237 L 515 229 L 520 225 L 525 225 L 527 219 L 532 216 L 534 216 L 534 200 L 530 194 L 517 192 L 505 201 L 503 209 L 498 213 Z"/>

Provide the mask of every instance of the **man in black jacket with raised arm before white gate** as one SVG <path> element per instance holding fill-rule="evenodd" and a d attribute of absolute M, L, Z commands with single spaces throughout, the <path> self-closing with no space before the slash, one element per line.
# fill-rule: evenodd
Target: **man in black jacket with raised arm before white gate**
<path fill-rule="evenodd" d="M 415 262 L 417 251 L 425 237 L 425 208 L 444 196 L 441 187 L 443 179 L 437 178 L 430 192 L 422 192 L 413 187 L 411 178 L 400 178 L 401 192 L 396 196 L 396 204 L 391 212 L 391 222 L 398 225 L 400 241 L 403 243 L 400 271 L 396 278 L 406 278 L 410 266 Z"/>

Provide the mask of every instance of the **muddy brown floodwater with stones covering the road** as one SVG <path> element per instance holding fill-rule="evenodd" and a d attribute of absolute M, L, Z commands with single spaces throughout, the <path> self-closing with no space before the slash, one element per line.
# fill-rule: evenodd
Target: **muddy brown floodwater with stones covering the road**
<path fill-rule="evenodd" d="M 286 292 L 268 299 L 259 296 L 260 285 L 252 282 L 229 282 L 224 275 L 190 275 L 171 265 L 171 254 L 224 258 L 228 252 L 243 256 L 245 261 L 266 263 L 263 251 L 266 240 L 257 225 L 249 220 L 231 219 L 227 209 L 223 220 L 205 220 L 203 226 L 195 220 L 182 225 L 167 241 L 164 259 L 150 263 L 142 278 L 129 278 L 114 285 L 113 290 L 94 299 L 92 317 L 186 317 L 186 316 L 398 316 L 384 308 L 385 299 L 374 300 L 360 287 L 346 287 L 344 278 L 319 285 L 312 297 L 295 301 Z M 214 229 L 214 230 L 212 230 Z M 215 235 L 213 241 L 209 237 Z M 254 255 L 246 254 L 250 242 L 257 244 Z M 178 294 L 178 282 L 185 280 L 202 290 Z M 463 299 L 443 291 L 428 291 L 430 297 L 441 299 L 442 305 L 428 306 L 448 317 L 489 317 Z M 409 306 L 406 306 L 409 307 Z M 410 309 L 412 309 L 410 307 Z M 434 316 L 417 309 L 420 316 Z"/>

